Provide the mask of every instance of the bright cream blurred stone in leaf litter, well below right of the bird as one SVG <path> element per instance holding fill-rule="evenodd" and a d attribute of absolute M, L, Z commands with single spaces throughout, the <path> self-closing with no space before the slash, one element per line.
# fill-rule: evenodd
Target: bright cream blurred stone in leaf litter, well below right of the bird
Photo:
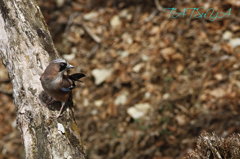
<path fill-rule="evenodd" d="M 127 113 L 134 119 L 142 118 L 147 114 L 151 106 L 148 103 L 136 104 L 127 109 Z"/>

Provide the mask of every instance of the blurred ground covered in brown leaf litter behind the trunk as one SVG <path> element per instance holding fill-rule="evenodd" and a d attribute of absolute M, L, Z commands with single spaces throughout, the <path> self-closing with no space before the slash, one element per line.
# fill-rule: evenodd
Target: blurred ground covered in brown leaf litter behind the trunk
<path fill-rule="evenodd" d="M 38 0 L 60 55 L 87 75 L 74 91 L 88 159 L 181 159 L 202 131 L 240 130 L 237 0 Z M 162 8 L 231 15 L 169 19 Z M 0 65 L 0 158 L 21 159 Z"/>

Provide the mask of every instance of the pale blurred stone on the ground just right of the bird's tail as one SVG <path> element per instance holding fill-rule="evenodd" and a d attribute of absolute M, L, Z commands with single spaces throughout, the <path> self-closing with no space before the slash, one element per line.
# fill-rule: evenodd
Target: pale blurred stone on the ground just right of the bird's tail
<path fill-rule="evenodd" d="M 92 75 L 95 79 L 95 84 L 99 85 L 103 83 L 108 77 L 112 74 L 112 70 L 110 69 L 94 69 L 92 71 Z"/>

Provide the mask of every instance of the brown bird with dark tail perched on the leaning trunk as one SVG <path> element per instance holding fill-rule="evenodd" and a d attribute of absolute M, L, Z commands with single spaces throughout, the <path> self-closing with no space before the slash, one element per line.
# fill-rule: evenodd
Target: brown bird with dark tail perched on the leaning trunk
<path fill-rule="evenodd" d="M 40 77 L 42 87 L 53 100 L 61 102 L 60 117 L 64 105 L 72 98 L 72 89 L 76 88 L 76 81 L 85 77 L 83 73 L 69 75 L 68 70 L 74 68 L 66 60 L 58 58 L 52 60 Z M 71 100 L 71 99 L 70 99 Z"/>

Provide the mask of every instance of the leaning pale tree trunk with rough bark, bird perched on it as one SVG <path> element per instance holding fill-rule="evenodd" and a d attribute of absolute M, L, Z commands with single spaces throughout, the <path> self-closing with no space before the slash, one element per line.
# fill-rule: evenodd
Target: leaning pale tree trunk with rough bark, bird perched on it
<path fill-rule="evenodd" d="M 40 99 L 40 75 L 58 56 L 34 0 L 0 1 L 0 55 L 13 84 L 17 122 L 27 159 L 82 159 L 79 129 L 68 109 L 57 119 Z"/>

